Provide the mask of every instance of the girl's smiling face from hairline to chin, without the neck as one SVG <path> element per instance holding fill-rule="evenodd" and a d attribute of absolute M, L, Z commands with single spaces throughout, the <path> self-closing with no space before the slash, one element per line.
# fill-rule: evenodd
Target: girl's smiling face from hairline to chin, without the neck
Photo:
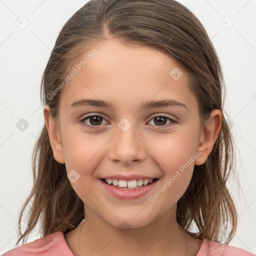
<path fill-rule="evenodd" d="M 207 152 L 204 158 L 198 153 L 205 142 L 198 104 L 187 73 L 164 53 L 117 39 L 95 48 L 98 53 L 81 70 L 76 67 L 61 91 L 59 129 L 55 136 L 53 128 L 50 133 L 54 157 L 65 163 L 67 174 L 73 171 L 70 184 L 85 215 L 93 212 L 116 227 L 122 221 L 144 226 L 175 211 L 194 164 L 205 160 Z M 83 99 L 112 106 L 82 104 Z M 174 103 L 141 108 L 151 100 Z M 142 196 L 120 199 L 100 183 L 102 177 L 119 174 L 157 180 Z"/>

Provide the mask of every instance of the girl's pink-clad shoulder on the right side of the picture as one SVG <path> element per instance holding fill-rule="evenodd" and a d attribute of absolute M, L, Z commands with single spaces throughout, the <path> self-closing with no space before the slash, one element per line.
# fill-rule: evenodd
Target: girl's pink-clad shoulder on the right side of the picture
<path fill-rule="evenodd" d="M 255 254 L 239 247 L 221 244 L 218 241 L 211 241 L 208 244 L 208 240 L 203 237 L 196 256 L 255 256 Z"/>

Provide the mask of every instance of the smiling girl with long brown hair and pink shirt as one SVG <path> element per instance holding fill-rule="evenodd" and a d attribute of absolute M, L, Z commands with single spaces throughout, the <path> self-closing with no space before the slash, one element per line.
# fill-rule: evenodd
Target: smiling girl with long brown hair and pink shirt
<path fill-rule="evenodd" d="M 182 4 L 88 1 L 44 70 L 28 227 L 3 255 L 253 255 L 228 245 L 223 90 L 212 43 Z M 39 217 L 42 238 L 24 243 Z"/>

